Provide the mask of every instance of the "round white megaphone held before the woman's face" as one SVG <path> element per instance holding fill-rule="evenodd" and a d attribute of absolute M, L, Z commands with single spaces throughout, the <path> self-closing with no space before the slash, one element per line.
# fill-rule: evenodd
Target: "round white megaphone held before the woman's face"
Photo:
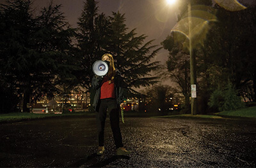
<path fill-rule="evenodd" d="M 93 73 L 98 76 L 105 76 L 108 73 L 109 64 L 107 61 L 96 60 L 92 65 Z"/>

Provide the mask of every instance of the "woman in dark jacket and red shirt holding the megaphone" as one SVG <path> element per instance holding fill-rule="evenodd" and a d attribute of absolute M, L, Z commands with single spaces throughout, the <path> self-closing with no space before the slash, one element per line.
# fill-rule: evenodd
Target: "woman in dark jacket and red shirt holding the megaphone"
<path fill-rule="evenodd" d="M 119 127 L 119 107 L 124 106 L 124 81 L 116 72 L 113 56 L 109 53 L 102 55 L 102 60 L 108 62 L 109 70 L 106 76 L 97 76 L 92 78 L 92 88 L 96 90 L 93 99 L 93 108 L 96 111 L 97 130 L 99 147 L 97 155 L 104 154 L 104 127 L 107 111 L 113 137 L 116 146 L 116 155 L 129 155 L 131 151 L 124 148 L 122 135 Z"/>

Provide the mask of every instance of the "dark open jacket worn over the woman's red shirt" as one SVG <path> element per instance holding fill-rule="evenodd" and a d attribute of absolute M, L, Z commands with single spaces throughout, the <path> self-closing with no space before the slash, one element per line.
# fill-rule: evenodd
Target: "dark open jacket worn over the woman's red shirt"
<path fill-rule="evenodd" d="M 99 111 L 99 99 L 100 99 L 100 87 L 102 85 L 103 76 L 97 76 L 96 74 L 92 78 L 92 88 L 96 90 L 93 99 L 93 108 L 95 111 Z M 114 78 L 115 83 L 115 94 L 116 94 L 116 104 L 121 104 L 124 102 L 124 80 L 122 77 L 116 73 Z"/>

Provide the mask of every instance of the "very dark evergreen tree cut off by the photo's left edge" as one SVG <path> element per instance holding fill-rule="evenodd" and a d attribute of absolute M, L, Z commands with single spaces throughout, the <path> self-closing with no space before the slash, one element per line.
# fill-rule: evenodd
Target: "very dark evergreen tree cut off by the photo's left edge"
<path fill-rule="evenodd" d="M 1 5 L 1 84 L 12 88 L 12 92 L 24 97 L 24 111 L 28 111 L 31 83 L 29 60 L 29 38 L 35 32 L 35 18 L 31 15 L 31 1 L 8 1 Z M 10 91 L 10 90 L 9 90 Z M 10 93 L 11 94 L 11 93 Z"/>

